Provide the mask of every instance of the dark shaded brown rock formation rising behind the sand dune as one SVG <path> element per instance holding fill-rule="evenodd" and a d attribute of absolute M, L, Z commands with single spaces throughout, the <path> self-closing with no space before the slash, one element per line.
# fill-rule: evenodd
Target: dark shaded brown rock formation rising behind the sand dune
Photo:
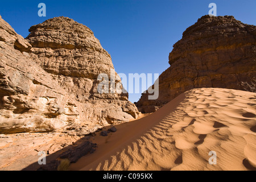
<path fill-rule="evenodd" d="M 255 26 L 241 23 L 233 16 L 203 16 L 174 45 L 169 56 L 171 67 L 159 76 L 159 98 L 148 100 L 148 93 L 143 94 L 136 104 L 139 111 L 154 112 L 193 88 L 253 92 L 255 43 Z"/>

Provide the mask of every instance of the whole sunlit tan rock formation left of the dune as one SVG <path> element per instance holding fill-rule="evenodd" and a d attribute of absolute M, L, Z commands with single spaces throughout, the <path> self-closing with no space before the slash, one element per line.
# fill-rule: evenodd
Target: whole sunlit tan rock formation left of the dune
<path fill-rule="evenodd" d="M 0 133 L 85 134 L 137 117 L 128 94 L 98 93 L 98 74 L 114 67 L 88 27 L 58 17 L 30 32 L 23 39 L 0 18 Z"/>

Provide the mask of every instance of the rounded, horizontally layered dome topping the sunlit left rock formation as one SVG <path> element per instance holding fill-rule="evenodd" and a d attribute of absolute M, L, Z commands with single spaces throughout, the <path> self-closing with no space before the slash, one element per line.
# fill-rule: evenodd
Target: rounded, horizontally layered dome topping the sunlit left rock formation
<path fill-rule="evenodd" d="M 72 19 L 49 19 L 32 26 L 29 31 L 26 39 L 34 48 L 32 57 L 48 73 L 92 80 L 114 69 L 109 53 L 101 47 L 93 32 Z M 85 84 L 89 92 L 92 86 L 88 79 Z"/>

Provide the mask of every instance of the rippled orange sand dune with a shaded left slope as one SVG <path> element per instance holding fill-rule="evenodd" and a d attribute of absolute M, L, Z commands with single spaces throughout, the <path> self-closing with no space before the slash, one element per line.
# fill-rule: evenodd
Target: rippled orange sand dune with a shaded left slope
<path fill-rule="evenodd" d="M 255 170 L 256 94 L 201 88 L 155 113 L 99 133 L 71 170 Z M 210 151 L 217 164 L 210 165 Z"/>

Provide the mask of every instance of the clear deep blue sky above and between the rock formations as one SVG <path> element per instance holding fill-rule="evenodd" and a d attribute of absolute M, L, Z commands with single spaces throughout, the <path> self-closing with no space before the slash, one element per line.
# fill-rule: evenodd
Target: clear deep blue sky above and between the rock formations
<path fill-rule="evenodd" d="M 46 4 L 46 17 L 38 16 L 38 4 Z M 24 38 L 28 28 L 55 16 L 68 16 L 89 27 L 112 56 L 117 73 L 165 71 L 172 46 L 183 31 L 208 14 L 216 3 L 217 16 L 233 15 L 256 24 L 255 0 L 40 0 L 1 1 L 0 14 Z M 144 91 L 144 90 L 143 90 Z M 129 94 L 131 102 L 141 94 Z"/>

